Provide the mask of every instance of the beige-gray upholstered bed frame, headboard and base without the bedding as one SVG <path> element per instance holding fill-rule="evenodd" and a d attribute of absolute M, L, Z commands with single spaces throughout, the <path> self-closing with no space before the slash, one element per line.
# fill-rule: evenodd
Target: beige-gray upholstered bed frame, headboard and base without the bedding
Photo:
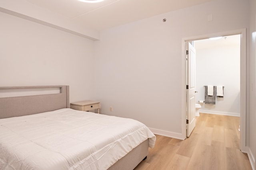
<path fill-rule="evenodd" d="M 28 90 L 60 88 L 59 93 L 40 94 L 30 96 L 14 96 L 0 98 L 0 119 L 32 115 L 46 111 L 69 108 L 69 86 L 16 86 L 0 87 L 1 90 Z M 148 154 L 148 140 L 131 150 L 126 156 L 118 160 L 108 170 L 132 170 Z"/>

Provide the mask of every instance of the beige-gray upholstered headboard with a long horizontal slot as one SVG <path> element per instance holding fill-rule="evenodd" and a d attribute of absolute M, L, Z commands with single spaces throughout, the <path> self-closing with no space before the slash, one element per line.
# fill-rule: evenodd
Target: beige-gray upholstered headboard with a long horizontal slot
<path fill-rule="evenodd" d="M 0 90 L 35 88 L 60 88 L 60 93 L 0 98 L 0 119 L 69 108 L 69 86 L 17 86 Z"/>

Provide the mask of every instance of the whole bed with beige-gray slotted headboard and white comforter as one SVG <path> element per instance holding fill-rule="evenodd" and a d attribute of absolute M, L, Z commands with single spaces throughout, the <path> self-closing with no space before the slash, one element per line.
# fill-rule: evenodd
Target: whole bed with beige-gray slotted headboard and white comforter
<path fill-rule="evenodd" d="M 142 123 L 69 108 L 69 86 L 58 93 L 0 98 L 0 169 L 132 170 L 154 147 Z"/>

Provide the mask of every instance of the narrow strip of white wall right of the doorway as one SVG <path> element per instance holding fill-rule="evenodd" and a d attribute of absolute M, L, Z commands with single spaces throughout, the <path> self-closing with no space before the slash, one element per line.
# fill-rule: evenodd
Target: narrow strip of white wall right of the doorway
<path fill-rule="evenodd" d="M 256 170 L 256 0 L 250 0 L 250 96 L 249 96 L 249 105 L 250 105 L 250 114 L 247 116 L 249 123 L 247 125 L 248 131 L 246 135 L 248 136 L 248 156 L 252 162 L 252 168 Z"/>

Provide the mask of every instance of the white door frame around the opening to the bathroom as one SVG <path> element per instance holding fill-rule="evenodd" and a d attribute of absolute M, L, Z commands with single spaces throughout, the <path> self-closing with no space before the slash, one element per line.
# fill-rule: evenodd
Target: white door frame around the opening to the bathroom
<path fill-rule="evenodd" d="M 182 38 L 182 138 L 186 139 L 186 41 L 208 39 L 210 37 L 241 35 L 240 45 L 240 150 L 246 147 L 246 28 L 231 31 Z"/>

